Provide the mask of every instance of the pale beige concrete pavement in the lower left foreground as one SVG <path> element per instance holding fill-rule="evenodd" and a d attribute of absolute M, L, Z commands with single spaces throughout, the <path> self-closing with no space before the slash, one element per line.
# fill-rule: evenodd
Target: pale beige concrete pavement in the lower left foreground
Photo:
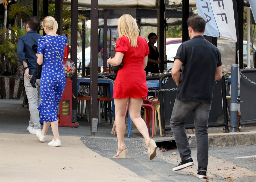
<path fill-rule="evenodd" d="M 88 149 L 78 137 L 47 146 L 35 135 L 0 133 L 0 181 L 148 182 L 113 160 Z"/>

